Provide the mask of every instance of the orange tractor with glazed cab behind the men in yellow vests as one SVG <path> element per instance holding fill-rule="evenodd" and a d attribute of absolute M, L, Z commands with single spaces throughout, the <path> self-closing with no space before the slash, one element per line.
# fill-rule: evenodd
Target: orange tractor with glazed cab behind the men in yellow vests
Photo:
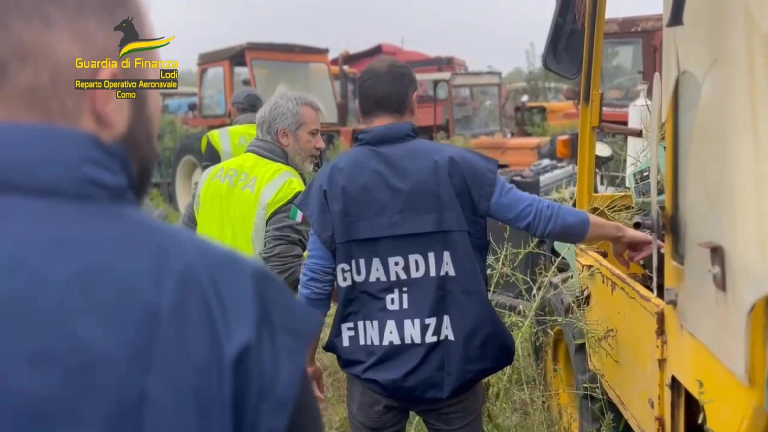
<path fill-rule="evenodd" d="M 240 88 L 256 88 L 264 101 L 283 89 L 313 95 L 323 108 L 326 143 L 333 145 L 339 138 L 352 142 L 353 128 L 346 127 L 349 105 L 336 97 L 328 53 L 306 45 L 247 42 L 198 56 L 197 112 L 181 120 L 201 130 L 182 138 L 173 157 L 170 198 L 176 208 L 186 207 L 200 179 L 200 140 L 211 128 L 230 124 L 230 96 Z"/>

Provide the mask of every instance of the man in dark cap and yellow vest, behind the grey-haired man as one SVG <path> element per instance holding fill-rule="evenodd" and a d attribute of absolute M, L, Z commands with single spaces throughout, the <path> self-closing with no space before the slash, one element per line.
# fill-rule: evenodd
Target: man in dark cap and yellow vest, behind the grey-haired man
<path fill-rule="evenodd" d="M 240 156 L 245 152 L 250 141 L 256 138 L 256 115 L 263 105 L 261 96 L 251 87 L 240 88 L 232 94 L 229 112 L 232 125 L 211 129 L 200 140 L 200 151 L 203 154 L 200 160 L 201 169 L 205 171 L 220 161 Z M 197 193 L 197 187 L 197 184 L 193 185 L 192 194 Z M 197 228 L 191 201 L 187 208 L 184 208 L 181 224 L 188 228 Z"/>

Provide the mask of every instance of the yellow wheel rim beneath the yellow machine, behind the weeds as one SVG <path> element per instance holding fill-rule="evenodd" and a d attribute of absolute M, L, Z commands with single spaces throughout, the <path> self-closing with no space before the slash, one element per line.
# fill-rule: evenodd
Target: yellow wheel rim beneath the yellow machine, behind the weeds
<path fill-rule="evenodd" d="M 571 354 L 561 327 L 554 329 L 545 357 L 551 407 L 560 420 L 560 430 L 579 432 L 578 394 Z"/>

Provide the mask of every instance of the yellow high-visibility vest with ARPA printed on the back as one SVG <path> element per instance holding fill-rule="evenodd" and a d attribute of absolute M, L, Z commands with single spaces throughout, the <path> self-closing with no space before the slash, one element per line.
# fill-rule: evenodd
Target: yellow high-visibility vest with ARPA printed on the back
<path fill-rule="evenodd" d="M 266 221 L 303 190 L 296 170 L 253 153 L 215 164 L 197 189 L 197 234 L 260 258 Z"/>

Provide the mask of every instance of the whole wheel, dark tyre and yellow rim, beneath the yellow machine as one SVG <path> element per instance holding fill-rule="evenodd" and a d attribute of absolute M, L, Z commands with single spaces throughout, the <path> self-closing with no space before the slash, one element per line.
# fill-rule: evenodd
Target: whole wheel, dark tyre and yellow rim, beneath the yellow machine
<path fill-rule="evenodd" d="M 544 367 L 560 430 L 599 431 L 606 404 L 598 377 L 589 370 L 584 331 L 572 311 L 574 298 L 562 289 L 570 277 L 553 277 L 538 304 L 535 319 L 541 337 L 534 344 L 534 357 Z"/>

